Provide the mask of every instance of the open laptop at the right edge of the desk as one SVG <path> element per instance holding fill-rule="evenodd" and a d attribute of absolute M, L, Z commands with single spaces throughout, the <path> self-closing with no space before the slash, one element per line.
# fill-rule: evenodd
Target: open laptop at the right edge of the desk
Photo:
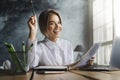
<path fill-rule="evenodd" d="M 115 37 L 113 40 L 109 65 L 93 65 L 86 68 L 80 68 L 80 70 L 88 70 L 88 71 L 120 70 L 120 37 Z"/>

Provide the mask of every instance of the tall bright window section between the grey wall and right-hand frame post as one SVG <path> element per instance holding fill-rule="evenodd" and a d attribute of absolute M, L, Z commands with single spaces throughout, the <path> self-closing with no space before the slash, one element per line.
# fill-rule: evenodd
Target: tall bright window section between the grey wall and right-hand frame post
<path fill-rule="evenodd" d="M 96 55 L 96 62 L 109 64 L 114 37 L 113 0 L 93 1 L 93 43 L 102 43 Z"/>

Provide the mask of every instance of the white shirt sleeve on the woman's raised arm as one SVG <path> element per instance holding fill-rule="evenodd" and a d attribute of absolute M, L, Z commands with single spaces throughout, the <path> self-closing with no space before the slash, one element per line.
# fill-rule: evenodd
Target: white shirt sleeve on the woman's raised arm
<path fill-rule="evenodd" d="M 30 48 L 32 44 L 33 46 Z M 30 39 L 28 39 L 27 49 L 29 48 L 30 50 L 28 50 L 27 53 L 27 65 L 29 68 L 33 68 L 38 65 L 40 59 L 40 53 L 42 53 L 42 50 L 40 49 L 40 47 L 38 47 L 37 40 L 31 41 Z"/>

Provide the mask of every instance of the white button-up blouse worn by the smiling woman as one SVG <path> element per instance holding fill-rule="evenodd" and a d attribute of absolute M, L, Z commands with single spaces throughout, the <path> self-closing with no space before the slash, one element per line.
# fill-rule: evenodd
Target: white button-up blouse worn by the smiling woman
<path fill-rule="evenodd" d="M 73 48 L 69 41 L 58 39 L 56 42 L 45 38 L 43 41 L 28 40 L 27 47 L 33 44 L 28 51 L 28 67 L 68 65 L 73 62 Z"/>

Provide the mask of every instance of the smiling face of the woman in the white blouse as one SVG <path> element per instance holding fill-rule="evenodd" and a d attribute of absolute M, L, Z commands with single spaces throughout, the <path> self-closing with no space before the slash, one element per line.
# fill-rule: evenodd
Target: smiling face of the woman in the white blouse
<path fill-rule="evenodd" d="M 61 31 L 62 25 L 60 23 L 59 17 L 55 14 L 50 15 L 48 19 L 46 36 L 50 40 L 56 41 L 56 39 L 60 36 Z"/>

